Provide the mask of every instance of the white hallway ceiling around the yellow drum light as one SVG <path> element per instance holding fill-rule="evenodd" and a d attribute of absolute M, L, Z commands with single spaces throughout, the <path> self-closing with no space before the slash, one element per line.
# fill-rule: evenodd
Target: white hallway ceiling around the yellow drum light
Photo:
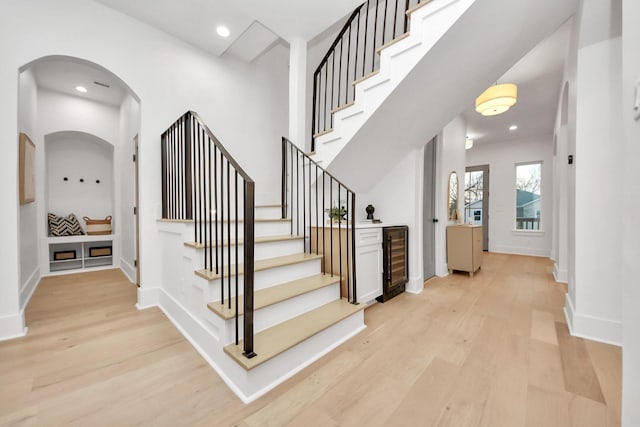
<path fill-rule="evenodd" d="M 498 79 L 498 83 L 518 85 L 518 102 L 509 111 L 485 117 L 475 111 L 472 101 L 463 117 L 474 144 L 553 133 L 570 33 L 571 21 L 567 21 Z M 509 130 L 513 124 L 518 126 L 516 131 Z"/>

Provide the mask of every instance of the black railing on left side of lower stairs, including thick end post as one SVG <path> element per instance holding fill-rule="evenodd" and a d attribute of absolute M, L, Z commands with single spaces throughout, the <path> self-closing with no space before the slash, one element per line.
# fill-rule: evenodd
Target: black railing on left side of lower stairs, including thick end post
<path fill-rule="evenodd" d="M 234 297 L 244 276 L 244 354 L 253 357 L 255 184 L 193 111 L 162 134 L 161 150 L 162 217 L 193 220 L 204 271 L 220 280 L 220 304 L 231 310 L 234 301 L 236 345 L 240 298 Z"/>

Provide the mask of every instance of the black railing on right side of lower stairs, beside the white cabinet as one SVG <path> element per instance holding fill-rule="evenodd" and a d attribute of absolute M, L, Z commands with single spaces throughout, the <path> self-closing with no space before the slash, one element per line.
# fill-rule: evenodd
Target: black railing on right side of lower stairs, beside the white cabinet
<path fill-rule="evenodd" d="M 282 138 L 282 218 L 303 236 L 305 253 L 323 254 L 322 273 L 339 276 L 341 296 L 358 304 L 356 193 Z"/>

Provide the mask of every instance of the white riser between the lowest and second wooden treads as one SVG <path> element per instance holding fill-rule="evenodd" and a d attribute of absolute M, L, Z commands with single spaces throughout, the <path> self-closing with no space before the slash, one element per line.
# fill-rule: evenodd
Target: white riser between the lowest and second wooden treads
<path fill-rule="evenodd" d="M 258 333 L 267 328 L 270 328 L 278 323 L 282 323 L 292 317 L 300 316 L 307 311 L 318 308 L 324 304 L 328 304 L 340 298 L 339 283 L 331 286 L 325 286 L 324 288 L 316 289 L 313 292 L 307 292 L 303 295 L 298 295 L 295 298 L 281 301 L 277 304 L 263 307 L 260 310 L 254 312 L 253 328 L 254 333 Z M 212 313 L 214 316 L 215 313 Z M 223 335 L 224 344 L 235 342 L 235 318 L 224 320 L 225 335 Z M 240 316 L 238 319 L 239 330 L 243 330 L 244 316 Z M 242 332 L 240 332 L 242 333 Z M 242 339 L 242 337 L 240 337 Z"/>

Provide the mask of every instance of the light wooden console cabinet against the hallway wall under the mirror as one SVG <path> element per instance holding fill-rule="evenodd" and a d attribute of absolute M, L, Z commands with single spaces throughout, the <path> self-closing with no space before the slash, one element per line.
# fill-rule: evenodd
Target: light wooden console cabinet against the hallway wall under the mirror
<path fill-rule="evenodd" d="M 466 271 L 469 276 L 482 266 L 482 226 L 450 225 L 447 227 L 447 267 Z"/>

